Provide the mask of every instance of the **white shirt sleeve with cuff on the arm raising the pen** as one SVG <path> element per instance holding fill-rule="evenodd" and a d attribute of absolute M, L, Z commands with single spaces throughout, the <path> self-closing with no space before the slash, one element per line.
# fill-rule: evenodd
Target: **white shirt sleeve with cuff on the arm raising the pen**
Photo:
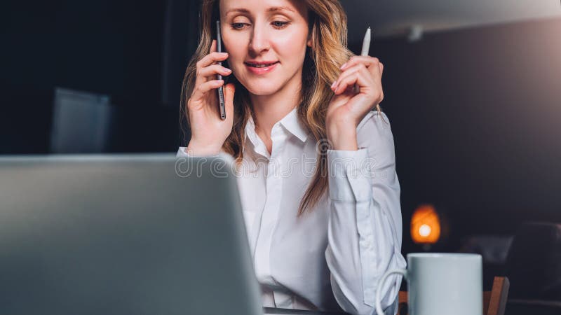
<path fill-rule="evenodd" d="M 387 118 L 386 118 L 387 120 Z M 358 130 L 358 151 L 327 151 L 330 221 L 325 251 L 339 305 L 351 314 L 372 314 L 374 297 L 394 312 L 401 277 L 389 269 L 405 267 L 401 248 L 400 188 L 393 137 L 379 117 L 367 116 Z"/>

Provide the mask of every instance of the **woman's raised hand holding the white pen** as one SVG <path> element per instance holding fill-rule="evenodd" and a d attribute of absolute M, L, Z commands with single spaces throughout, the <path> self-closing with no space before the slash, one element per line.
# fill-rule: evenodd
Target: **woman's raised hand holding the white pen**
<path fill-rule="evenodd" d="M 376 57 L 353 56 L 341 69 L 343 72 L 331 86 L 335 94 L 325 118 L 327 139 L 334 150 L 356 151 L 356 127 L 384 99 L 381 87 L 384 65 Z"/>

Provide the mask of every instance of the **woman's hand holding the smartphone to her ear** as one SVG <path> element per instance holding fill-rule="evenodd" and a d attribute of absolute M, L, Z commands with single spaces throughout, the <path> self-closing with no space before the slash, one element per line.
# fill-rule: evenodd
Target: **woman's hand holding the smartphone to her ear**
<path fill-rule="evenodd" d="M 224 80 L 216 80 L 216 75 L 229 76 L 231 70 L 217 64 L 228 58 L 227 52 L 216 52 L 216 40 L 210 45 L 210 53 L 196 64 L 195 87 L 187 101 L 191 141 L 187 153 L 191 155 L 217 155 L 222 144 L 232 131 L 234 123 L 234 92 L 236 87 L 229 83 L 224 87 L 226 119 L 220 118 L 217 88 Z"/>

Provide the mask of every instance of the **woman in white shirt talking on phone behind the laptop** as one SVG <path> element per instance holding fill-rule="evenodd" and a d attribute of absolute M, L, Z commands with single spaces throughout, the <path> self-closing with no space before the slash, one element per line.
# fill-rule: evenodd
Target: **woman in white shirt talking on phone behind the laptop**
<path fill-rule="evenodd" d="M 215 52 L 217 18 L 228 53 Z M 178 156 L 222 151 L 241 165 L 264 306 L 372 314 L 382 290 L 395 314 L 400 276 L 377 286 L 405 267 L 393 136 L 372 111 L 382 64 L 346 49 L 337 0 L 205 0 L 201 24 L 182 89 L 191 140 Z M 226 120 L 218 73 L 231 79 Z"/>

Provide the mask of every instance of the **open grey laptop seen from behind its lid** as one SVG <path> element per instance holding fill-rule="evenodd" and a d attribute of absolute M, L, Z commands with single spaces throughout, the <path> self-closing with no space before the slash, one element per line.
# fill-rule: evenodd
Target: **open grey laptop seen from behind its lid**
<path fill-rule="evenodd" d="M 229 161 L 202 159 L 0 158 L 1 314 L 263 314 Z"/>

